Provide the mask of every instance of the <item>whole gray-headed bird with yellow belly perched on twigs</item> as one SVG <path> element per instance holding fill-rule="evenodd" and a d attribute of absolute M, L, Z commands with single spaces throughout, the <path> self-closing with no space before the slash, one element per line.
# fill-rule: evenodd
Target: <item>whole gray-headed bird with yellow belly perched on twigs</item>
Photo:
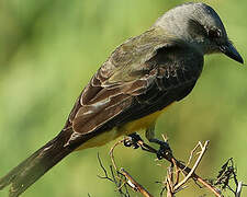
<path fill-rule="evenodd" d="M 0 189 L 10 185 L 9 196 L 18 197 L 71 152 L 139 130 L 165 146 L 155 138 L 157 118 L 190 94 L 204 56 L 215 53 L 244 63 L 212 7 L 188 2 L 167 11 L 116 47 L 80 93 L 61 131 L 1 177 Z"/>

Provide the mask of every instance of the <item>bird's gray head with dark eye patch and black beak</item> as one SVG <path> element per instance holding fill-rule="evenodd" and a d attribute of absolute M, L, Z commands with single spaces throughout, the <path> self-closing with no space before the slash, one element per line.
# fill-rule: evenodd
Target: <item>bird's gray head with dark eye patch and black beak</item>
<path fill-rule="evenodd" d="M 154 26 L 190 43 L 202 54 L 224 53 L 238 62 L 244 62 L 229 42 L 217 13 L 204 3 L 184 3 L 159 18 Z"/>

